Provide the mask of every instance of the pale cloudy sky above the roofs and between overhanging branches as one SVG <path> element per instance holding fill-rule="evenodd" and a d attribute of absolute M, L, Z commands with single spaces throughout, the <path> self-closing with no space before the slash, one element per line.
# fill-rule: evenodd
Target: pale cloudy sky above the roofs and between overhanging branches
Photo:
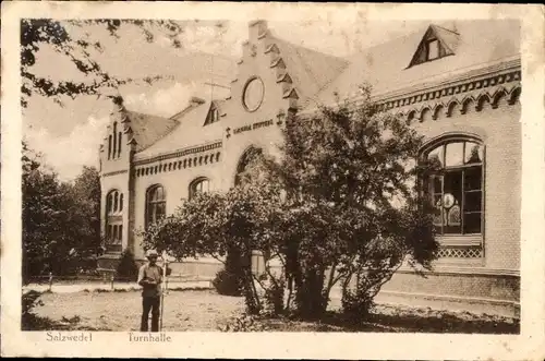
<path fill-rule="evenodd" d="M 144 77 L 169 75 L 153 85 L 130 85 L 120 89 L 126 108 L 170 117 L 182 110 L 192 96 L 223 97 L 228 91 L 210 88 L 206 82 L 229 85 L 247 39 L 247 23 L 227 22 L 221 31 L 211 22 L 184 23 L 179 36 L 182 48 L 173 48 L 160 33 L 149 44 L 136 28 L 123 26 L 118 39 L 100 26 L 69 27 L 74 38 L 89 36 L 102 44 L 96 60 L 110 74 Z M 348 57 L 389 39 L 422 31 L 428 22 L 352 21 L 268 22 L 272 33 L 290 43 L 318 51 Z M 55 81 L 82 79 L 65 56 L 49 46 L 40 47 L 33 72 Z M 33 96 L 24 109 L 24 134 L 29 146 L 40 152 L 59 178 L 73 180 L 83 166 L 98 167 L 98 147 L 106 133 L 111 104 L 96 96 L 63 99 L 60 107 L 50 98 Z"/>

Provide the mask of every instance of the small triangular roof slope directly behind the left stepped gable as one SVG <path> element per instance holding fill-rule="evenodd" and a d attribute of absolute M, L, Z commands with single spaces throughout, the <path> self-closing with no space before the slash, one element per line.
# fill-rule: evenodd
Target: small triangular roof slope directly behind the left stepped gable
<path fill-rule="evenodd" d="M 156 143 L 162 136 L 178 127 L 174 119 L 143 115 L 125 110 L 132 136 L 136 141 L 136 152 L 141 152 Z"/>

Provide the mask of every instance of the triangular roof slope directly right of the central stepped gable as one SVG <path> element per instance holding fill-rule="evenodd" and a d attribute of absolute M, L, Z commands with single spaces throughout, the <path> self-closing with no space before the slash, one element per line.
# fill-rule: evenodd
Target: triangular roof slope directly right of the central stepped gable
<path fill-rule="evenodd" d="M 314 96 L 349 64 L 343 58 L 296 46 L 275 36 L 270 36 L 270 44 L 278 47 L 287 72 L 298 94 L 303 97 Z"/>

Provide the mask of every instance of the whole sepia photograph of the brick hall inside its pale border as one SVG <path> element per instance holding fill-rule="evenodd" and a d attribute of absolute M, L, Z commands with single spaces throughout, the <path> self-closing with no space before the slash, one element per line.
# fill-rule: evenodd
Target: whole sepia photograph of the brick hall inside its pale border
<path fill-rule="evenodd" d="M 19 332 L 521 335 L 521 19 L 102 14 L 17 20 Z"/>

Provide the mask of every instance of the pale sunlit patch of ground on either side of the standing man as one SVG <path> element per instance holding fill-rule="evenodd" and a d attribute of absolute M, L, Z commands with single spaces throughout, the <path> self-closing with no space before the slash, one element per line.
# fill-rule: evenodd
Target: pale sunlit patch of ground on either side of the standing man
<path fill-rule="evenodd" d="M 44 293 L 36 314 L 62 322 L 77 320 L 78 328 L 138 330 L 142 298 L 138 291 Z M 171 291 L 165 297 L 165 330 L 217 330 L 217 324 L 240 313 L 241 298 L 211 291 Z M 73 322 L 74 323 L 74 322 Z"/>

